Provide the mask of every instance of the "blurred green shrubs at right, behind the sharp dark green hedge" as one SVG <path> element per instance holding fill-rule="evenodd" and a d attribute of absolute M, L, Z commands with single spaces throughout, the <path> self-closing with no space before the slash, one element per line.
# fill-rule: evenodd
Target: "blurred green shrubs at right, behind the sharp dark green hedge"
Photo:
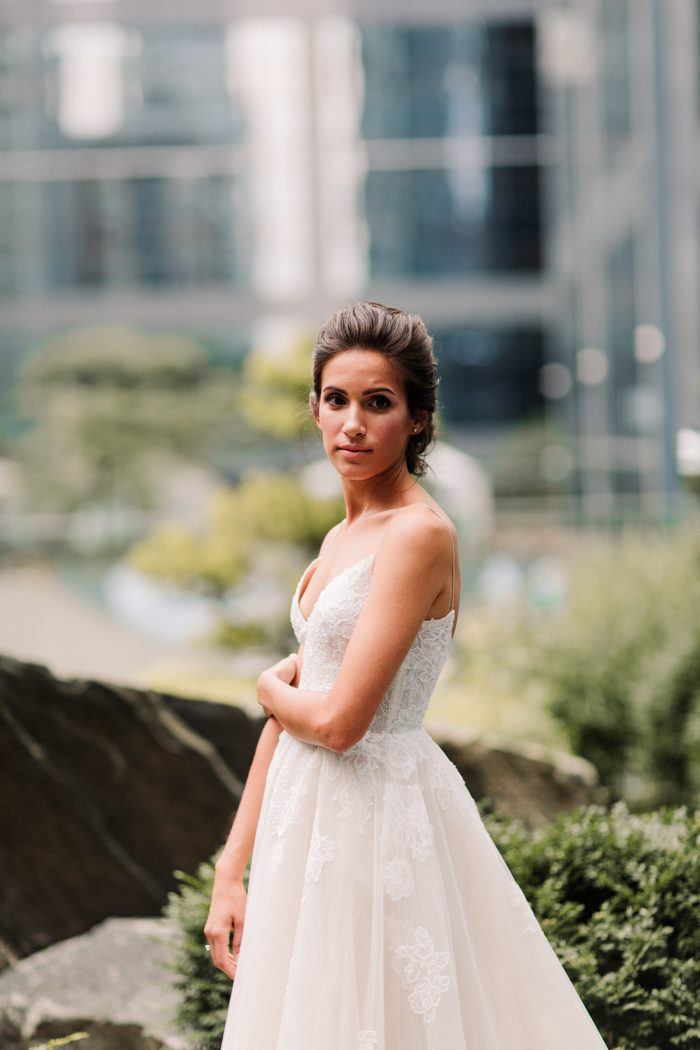
<path fill-rule="evenodd" d="M 564 606 L 523 603 L 457 676 L 465 691 L 544 708 L 613 796 L 700 799 L 700 530 L 579 540 Z M 493 674 L 493 679 L 489 677 Z M 469 696 L 465 704 L 471 702 Z"/>

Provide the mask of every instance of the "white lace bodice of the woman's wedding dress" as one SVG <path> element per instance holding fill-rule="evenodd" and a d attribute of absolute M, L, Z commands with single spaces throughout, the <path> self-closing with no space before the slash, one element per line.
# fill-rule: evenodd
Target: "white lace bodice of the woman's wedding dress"
<path fill-rule="evenodd" d="M 369 590 L 374 559 L 374 554 L 368 554 L 330 580 L 309 620 L 304 620 L 298 601 L 305 571 L 299 580 L 292 597 L 291 621 L 297 642 L 304 643 L 300 689 L 327 692 L 333 687 Z M 444 616 L 423 621 L 367 734 L 420 729 L 447 658 L 453 620 L 452 608 Z M 361 743 L 362 740 L 354 747 Z"/>

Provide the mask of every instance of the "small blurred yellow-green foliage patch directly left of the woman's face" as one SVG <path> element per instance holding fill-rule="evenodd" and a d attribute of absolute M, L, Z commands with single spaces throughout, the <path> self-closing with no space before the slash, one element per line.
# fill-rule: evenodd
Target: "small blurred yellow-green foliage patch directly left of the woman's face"
<path fill-rule="evenodd" d="M 243 361 L 238 408 L 253 430 L 287 441 L 315 434 L 309 410 L 314 336 L 294 342 L 283 356 L 253 351 Z"/>

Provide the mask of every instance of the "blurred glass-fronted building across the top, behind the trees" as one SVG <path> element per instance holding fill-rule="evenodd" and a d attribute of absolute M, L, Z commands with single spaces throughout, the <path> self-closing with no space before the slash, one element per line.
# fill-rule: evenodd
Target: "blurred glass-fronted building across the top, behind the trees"
<path fill-rule="evenodd" d="M 4 0 L 2 377 L 97 319 L 237 358 L 370 297 L 433 331 L 455 443 L 547 417 L 569 517 L 662 516 L 699 288 L 698 17 L 663 10 Z"/>

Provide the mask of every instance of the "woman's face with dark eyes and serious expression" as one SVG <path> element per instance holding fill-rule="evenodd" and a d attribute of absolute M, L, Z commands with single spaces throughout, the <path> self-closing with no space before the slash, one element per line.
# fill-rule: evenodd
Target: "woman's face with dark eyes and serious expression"
<path fill-rule="evenodd" d="M 331 463 L 358 480 L 400 464 L 415 427 L 422 428 L 391 361 L 375 350 L 342 351 L 325 363 L 316 422 Z"/>

